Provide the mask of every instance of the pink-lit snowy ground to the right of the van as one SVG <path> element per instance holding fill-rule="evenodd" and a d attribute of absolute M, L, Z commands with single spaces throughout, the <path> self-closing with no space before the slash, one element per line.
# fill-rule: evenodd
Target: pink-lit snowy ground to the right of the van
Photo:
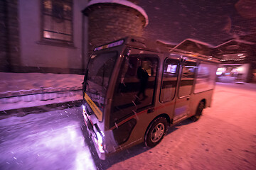
<path fill-rule="evenodd" d="M 256 169 L 256 84 L 216 84 L 211 108 L 185 120 L 153 149 L 132 147 L 109 169 Z"/>

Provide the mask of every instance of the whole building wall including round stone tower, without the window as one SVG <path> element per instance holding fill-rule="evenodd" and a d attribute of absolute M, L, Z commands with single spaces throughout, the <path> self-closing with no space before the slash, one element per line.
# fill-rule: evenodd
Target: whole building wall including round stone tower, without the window
<path fill-rule="evenodd" d="M 87 17 L 81 12 L 87 3 L 73 0 L 73 46 L 61 46 L 42 41 L 42 0 L 0 1 L 0 71 L 82 74 L 88 44 L 92 50 L 127 35 L 142 36 L 146 21 L 139 11 L 103 4 Z"/>

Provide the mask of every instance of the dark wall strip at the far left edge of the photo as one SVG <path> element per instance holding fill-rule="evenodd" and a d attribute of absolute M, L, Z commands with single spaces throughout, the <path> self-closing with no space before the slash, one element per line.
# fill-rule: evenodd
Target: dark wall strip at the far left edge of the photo
<path fill-rule="evenodd" d="M 0 1 L 0 72 L 16 72 L 20 65 L 18 1 Z"/>

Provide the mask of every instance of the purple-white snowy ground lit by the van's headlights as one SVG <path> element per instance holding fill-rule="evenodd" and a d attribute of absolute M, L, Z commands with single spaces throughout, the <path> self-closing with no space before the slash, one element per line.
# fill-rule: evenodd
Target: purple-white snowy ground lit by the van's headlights
<path fill-rule="evenodd" d="M 96 169 L 80 108 L 0 120 L 0 169 Z"/>

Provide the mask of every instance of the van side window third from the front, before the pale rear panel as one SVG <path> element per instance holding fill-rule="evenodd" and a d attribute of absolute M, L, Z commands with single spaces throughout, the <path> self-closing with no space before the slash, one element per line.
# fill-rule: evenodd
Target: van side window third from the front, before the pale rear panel
<path fill-rule="evenodd" d="M 188 96 L 192 93 L 195 73 L 196 62 L 184 62 L 182 67 L 181 83 L 178 90 L 178 97 Z"/>

